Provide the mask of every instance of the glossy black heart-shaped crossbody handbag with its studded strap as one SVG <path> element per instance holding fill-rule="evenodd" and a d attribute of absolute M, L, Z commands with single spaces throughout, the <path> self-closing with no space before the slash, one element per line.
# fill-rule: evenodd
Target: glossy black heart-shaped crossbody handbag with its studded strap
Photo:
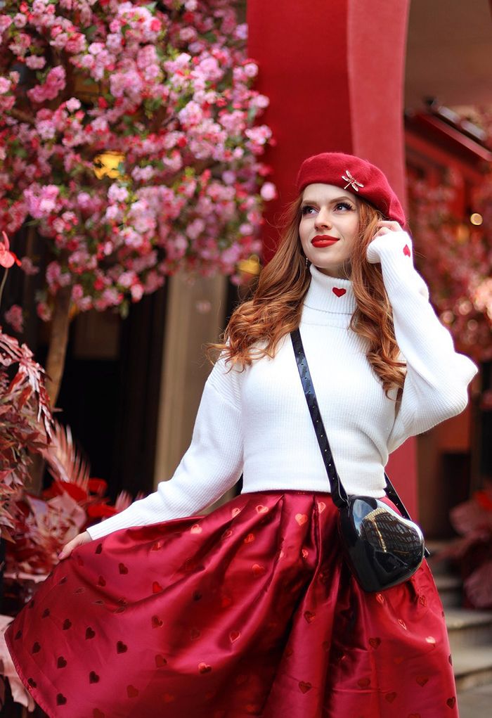
<path fill-rule="evenodd" d="M 333 461 L 314 391 L 301 332 L 290 333 L 304 396 L 330 482 L 331 498 L 339 509 L 339 535 L 347 563 L 364 591 L 374 592 L 410 579 L 429 553 L 420 526 L 412 521 L 386 474 L 386 495 L 402 513 L 381 499 L 347 495 Z"/>

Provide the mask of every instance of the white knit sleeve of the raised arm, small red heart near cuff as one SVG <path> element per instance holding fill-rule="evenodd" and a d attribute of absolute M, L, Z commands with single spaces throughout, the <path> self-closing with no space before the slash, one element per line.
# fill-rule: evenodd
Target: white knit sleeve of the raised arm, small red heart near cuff
<path fill-rule="evenodd" d="M 406 232 L 386 233 L 367 248 L 368 261 L 381 263 L 394 335 L 407 365 L 389 451 L 407 437 L 460 414 L 468 403 L 468 383 L 477 373 L 468 357 L 455 352 L 450 332 L 432 309 L 427 285 L 412 257 L 412 240 Z"/>

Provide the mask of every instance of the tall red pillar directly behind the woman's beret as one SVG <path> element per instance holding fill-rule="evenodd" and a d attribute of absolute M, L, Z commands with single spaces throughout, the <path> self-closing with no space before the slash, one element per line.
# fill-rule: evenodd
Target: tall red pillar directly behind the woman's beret
<path fill-rule="evenodd" d="M 256 88 L 270 106 L 261 121 L 273 129 L 278 200 L 265 212 L 269 258 L 280 214 L 293 199 L 299 164 L 310 154 L 343 151 L 387 174 L 405 201 L 402 120 L 405 43 L 410 0 L 248 0 L 248 54 L 260 71 Z M 415 515 L 415 440 L 395 452 L 389 472 Z"/>

